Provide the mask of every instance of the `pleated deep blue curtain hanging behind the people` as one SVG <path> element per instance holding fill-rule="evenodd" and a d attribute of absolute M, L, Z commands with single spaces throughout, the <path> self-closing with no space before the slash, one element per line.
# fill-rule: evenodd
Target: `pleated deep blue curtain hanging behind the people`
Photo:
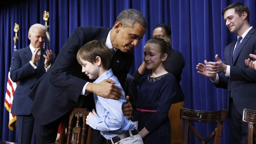
<path fill-rule="evenodd" d="M 132 52 L 135 61 L 130 74 L 143 61 L 143 46 L 152 36 L 153 27 L 160 22 L 172 29 L 172 47 L 185 58 L 181 86 L 185 94 L 185 107 L 196 110 L 227 108 L 226 90 L 216 88 L 209 78 L 197 74 L 196 65 L 206 59 L 215 61 L 215 54 L 223 58 L 226 45 L 236 39 L 225 26 L 222 9 L 234 2 L 249 7 L 250 24 L 255 27 L 254 0 L 20 0 L 5 1 L 0 5 L 0 140 L 15 142 L 15 130 L 8 129 L 8 111 L 4 107 L 7 74 L 13 53 L 14 23 L 18 23 L 17 49 L 29 45 L 29 27 L 34 23 L 45 25 L 44 10 L 50 13 L 50 47 L 58 54 L 69 35 L 77 26 L 112 27 L 117 15 L 125 9 L 137 9 L 148 21 L 143 39 Z M 3 3 L 3 1 L 1 2 Z M 204 137 L 213 125 L 194 124 Z M 228 119 L 224 123 L 221 143 L 232 143 Z M 198 143 L 191 137 L 190 143 Z"/>

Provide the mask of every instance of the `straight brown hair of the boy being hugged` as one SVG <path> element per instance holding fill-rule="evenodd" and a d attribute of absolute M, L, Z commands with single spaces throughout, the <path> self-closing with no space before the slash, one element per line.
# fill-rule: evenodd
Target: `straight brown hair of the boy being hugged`
<path fill-rule="evenodd" d="M 109 69 L 112 52 L 103 42 L 99 40 L 92 40 L 83 45 L 78 50 L 76 59 L 79 64 L 82 64 L 82 60 L 94 63 L 96 62 L 96 56 L 101 58 L 102 67 L 104 69 Z"/>

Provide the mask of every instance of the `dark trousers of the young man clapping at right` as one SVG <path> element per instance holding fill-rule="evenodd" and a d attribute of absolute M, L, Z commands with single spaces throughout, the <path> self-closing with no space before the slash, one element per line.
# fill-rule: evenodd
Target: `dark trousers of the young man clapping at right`
<path fill-rule="evenodd" d="M 248 123 L 242 121 L 243 115 L 241 115 L 233 102 L 233 99 L 229 100 L 229 118 L 230 128 L 234 144 L 247 144 L 248 137 Z"/>

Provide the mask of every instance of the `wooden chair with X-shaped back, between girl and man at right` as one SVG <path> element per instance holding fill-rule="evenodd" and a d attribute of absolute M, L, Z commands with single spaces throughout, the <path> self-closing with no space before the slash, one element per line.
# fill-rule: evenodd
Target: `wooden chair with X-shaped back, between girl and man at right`
<path fill-rule="evenodd" d="M 222 125 L 225 121 L 228 110 L 223 109 L 219 111 L 202 111 L 202 110 L 190 110 L 181 108 L 180 118 L 185 120 L 184 130 L 184 144 L 188 144 L 189 129 L 200 141 L 200 144 L 208 143 L 214 137 L 214 144 L 220 143 L 220 137 L 222 132 Z M 214 131 L 206 138 L 203 139 L 197 130 L 189 123 L 189 121 L 204 122 L 204 123 L 217 123 L 217 127 Z"/>

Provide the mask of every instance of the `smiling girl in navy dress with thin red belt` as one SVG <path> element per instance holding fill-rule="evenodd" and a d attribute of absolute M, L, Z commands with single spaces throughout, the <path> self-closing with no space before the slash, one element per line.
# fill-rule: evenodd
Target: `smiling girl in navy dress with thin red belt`
<path fill-rule="evenodd" d="M 152 74 L 140 78 L 133 121 L 144 144 L 170 144 L 171 126 L 168 111 L 176 94 L 176 78 L 163 63 L 169 53 L 168 37 L 152 38 L 144 47 L 144 61 Z"/>

